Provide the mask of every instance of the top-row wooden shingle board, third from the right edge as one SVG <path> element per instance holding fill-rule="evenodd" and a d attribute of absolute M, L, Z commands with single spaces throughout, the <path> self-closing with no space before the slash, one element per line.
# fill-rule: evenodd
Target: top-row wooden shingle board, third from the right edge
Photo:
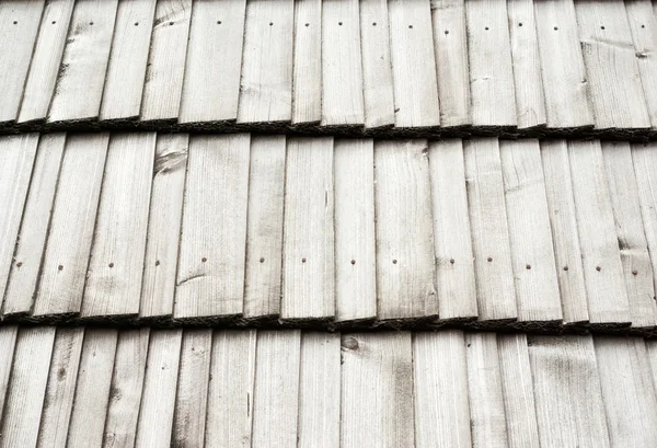
<path fill-rule="evenodd" d="M 549 128 L 592 126 L 573 0 L 534 1 Z"/>

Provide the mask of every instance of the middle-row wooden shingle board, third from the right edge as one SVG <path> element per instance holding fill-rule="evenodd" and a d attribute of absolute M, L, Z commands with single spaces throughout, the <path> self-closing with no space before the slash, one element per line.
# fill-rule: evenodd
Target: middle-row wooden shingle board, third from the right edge
<path fill-rule="evenodd" d="M 630 305 L 600 142 L 568 141 L 568 157 L 590 323 L 622 325 Z"/>

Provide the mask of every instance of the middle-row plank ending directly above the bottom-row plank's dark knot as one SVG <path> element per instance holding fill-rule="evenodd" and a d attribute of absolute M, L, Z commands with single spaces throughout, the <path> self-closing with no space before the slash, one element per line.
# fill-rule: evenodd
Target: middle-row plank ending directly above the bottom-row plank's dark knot
<path fill-rule="evenodd" d="M 373 141 L 336 140 L 334 163 L 336 321 L 376 319 Z"/>

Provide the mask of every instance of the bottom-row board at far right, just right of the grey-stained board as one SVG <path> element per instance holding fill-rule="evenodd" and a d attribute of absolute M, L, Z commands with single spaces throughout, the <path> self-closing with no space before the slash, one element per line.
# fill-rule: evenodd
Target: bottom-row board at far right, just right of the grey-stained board
<path fill-rule="evenodd" d="M 612 447 L 652 447 L 657 443 L 657 394 L 643 338 L 595 338 Z"/>

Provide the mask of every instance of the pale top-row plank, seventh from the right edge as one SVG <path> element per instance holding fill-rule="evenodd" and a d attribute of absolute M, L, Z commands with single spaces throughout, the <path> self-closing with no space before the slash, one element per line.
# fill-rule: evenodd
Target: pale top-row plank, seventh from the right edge
<path fill-rule="evenodd" d="M 396 127 L 440 125 L 429 0 L 391 0 L 390 48 Z"/>

